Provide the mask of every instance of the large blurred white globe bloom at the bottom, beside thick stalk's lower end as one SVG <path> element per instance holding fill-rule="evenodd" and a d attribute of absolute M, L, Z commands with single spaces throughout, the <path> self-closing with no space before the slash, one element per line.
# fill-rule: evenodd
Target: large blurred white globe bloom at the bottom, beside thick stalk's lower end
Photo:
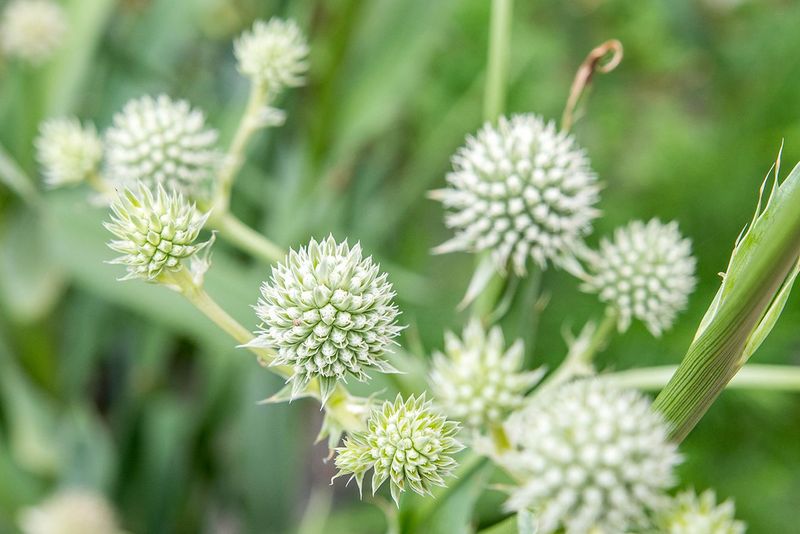
<path fill-rule="evenodd" d="M 505 425 L 502 464 L 518 480 L 508 506 L 529 510 L 537 532 L 628 532 L 666 500 L 679 462 L 647 398 L 602 379 L 540 396 Z"/>

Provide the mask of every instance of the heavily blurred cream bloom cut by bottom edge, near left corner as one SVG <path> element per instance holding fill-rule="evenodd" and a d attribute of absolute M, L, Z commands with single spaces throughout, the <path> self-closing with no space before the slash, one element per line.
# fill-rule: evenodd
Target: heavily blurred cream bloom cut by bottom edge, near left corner
<path fill-rule="evenodd" d="M 108 501 L 83 489 L 61 491 L 37 506 L 24 509 L 19 527 L 23 534 L 122 533 Z"/>

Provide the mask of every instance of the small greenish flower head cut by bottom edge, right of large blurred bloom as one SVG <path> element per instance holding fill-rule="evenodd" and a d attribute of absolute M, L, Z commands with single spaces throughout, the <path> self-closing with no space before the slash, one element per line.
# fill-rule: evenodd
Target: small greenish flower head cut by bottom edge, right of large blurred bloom
<path fill-rule="evenodd" d="M 679 493 L 669 507 L 659 513 L 658 532 L 663 534 L 744 534 L 746 526 L 737 521 L 733 502 L 717 504 L 713 490 L 697 495 Z"/>

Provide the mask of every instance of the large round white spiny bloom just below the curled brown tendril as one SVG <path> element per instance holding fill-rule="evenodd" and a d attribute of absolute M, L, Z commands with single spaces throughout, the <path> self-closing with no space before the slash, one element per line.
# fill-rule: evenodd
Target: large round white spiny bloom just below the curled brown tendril
<path fill-rule="evenodd" d="M 491 251 L 524 274 L 528 258 L 572 263 L 599 212 L 597 177 L 573 137 L 532 114 L 486 124 L 453 156 L 449 187 L 431 192 L 455 236 L 436 252 Z"/>

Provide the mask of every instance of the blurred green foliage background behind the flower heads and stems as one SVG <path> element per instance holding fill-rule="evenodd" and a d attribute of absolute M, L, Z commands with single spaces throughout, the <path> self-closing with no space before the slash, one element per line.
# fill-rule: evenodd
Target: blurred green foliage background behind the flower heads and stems
<path fill-rule="evenodd" d="M 361 240 L 395 282 L 410 325 L 402 344 L 415 358 L 461 328 L 454 306 L 473 259 L 429 255 L 448 232 L 424 194 L 481 124 L 489 2 L 64 6 L 70 37 L 53 62 L 0 63 L 0 143 L 29 175 L 42 118 L 75 114 L 104 129 L 146 93 L 188 99 L 227 141 L 247 94 L 231 40 L 256 18 L 292 17 L 311 41 L 308 84 L 281 99 L 287 123 L 251 146 L 234 211 L 284 246 L 328 232 Z M 800 4 L 789 0 L 516 2 L 509 112 L 558 118 L 586 53 L 609 38 L 625 47 L 575 128 L 605 183 L 590 243 L 657 216 L 680 221 L 698 257 L 699 286 L 677 327 L 654 340 L 635 325 L 601 356 L 604 367 L 680 360 L 782 139 L 784 169 L 800 159 L 798 27 Z M 177 295 L 115 281 L 121 270 L 103 263 L 113 256 L 106 212 L 87 206 L 85 190 L 42 196 L 32 206 L 0 185 L 0 532 L 68 484 L 104 492 L 136 533 L 386 528 L 355 487 L 329 486 L 327 451 L 312 445 L 316 404 L 257 405 L 279 387 L 274 376 Z M 207 288 L 254 328 L 250 306 L 268 269 L 221 241 L 214 248 Z M 564 273 L 545 273 L 543 291 L 536 335 L 525 284 L 503 324 L 507 338 L 527 339 L 531 365 L 552 367 L 563 331 L 601 308 Z M 753 361 L 800 365 L 799 322 L 793 298 Z M 684 485 L 734 497 L 750 532 L 796 531 L 800 397 L 726 392 L 682 449 Z M 501 497 L 485 491 L 474 511 L 456 500 L 428 531 L 487 526 Z"/>

